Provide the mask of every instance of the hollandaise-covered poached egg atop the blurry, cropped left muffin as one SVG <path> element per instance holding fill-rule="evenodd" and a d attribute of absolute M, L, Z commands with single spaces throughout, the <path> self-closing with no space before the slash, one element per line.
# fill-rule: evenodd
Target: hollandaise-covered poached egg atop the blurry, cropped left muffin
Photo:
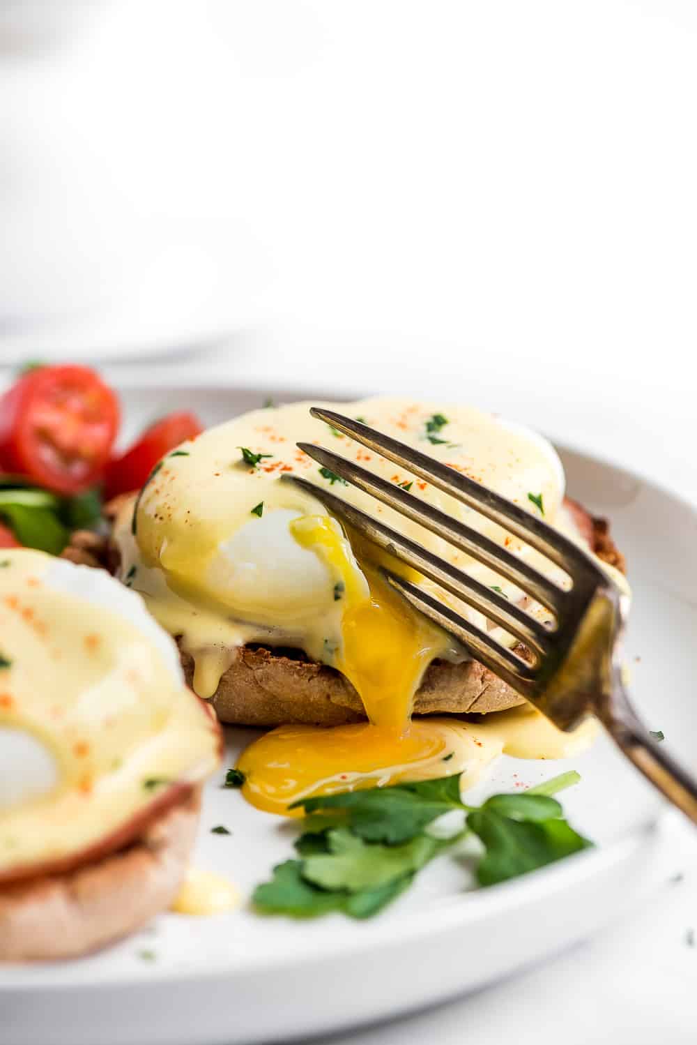
<path fill-rule="evenodd" d="M 0 555 L 0 880 L 127 830 L 219 736 L 176 651 L 102 571 Z"/>

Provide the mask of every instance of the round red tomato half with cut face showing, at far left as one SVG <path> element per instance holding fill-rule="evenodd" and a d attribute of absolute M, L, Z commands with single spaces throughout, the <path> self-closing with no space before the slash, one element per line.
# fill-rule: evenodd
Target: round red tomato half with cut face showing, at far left
<path fill-rule="evenodd" d="M 0 398 L 0 468 L 56 493 L 101 478 L 119 425 L 115 392 L 89 367 L 40 367 Z"/>

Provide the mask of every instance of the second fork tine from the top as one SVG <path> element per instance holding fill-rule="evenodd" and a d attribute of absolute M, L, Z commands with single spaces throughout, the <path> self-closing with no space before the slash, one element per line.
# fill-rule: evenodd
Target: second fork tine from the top
<path fill-rule="evenodd" d="M 551 609 L 557 619 L 562 617 L 567 593 L 530 566 L 524 559 L 512 555 L 507 549 L 495 543 L 478 530 L 451 518 L 439 509 L 419 497 L 414 497 L 413 494 L 395 486 L 394 483 L 374 475 L 372 472 L 353 461 L 347 461 L 345 458 L 339 457 L 338 454 L 326 450 L 321 446 L 315 446 L 313 443 L 298 443 L 297 445 L 337 475 L 350 480 L 359 489 L 378 497 L 383 504 L 401 512 L 414 522 L 420 524 L 451 544 L 455 544 L 495 573 L 508 578 L 518 587 L 530 594 L 537 602 Z M 314 491 L 317 490 L 314 484 L 310 485 Z"/>

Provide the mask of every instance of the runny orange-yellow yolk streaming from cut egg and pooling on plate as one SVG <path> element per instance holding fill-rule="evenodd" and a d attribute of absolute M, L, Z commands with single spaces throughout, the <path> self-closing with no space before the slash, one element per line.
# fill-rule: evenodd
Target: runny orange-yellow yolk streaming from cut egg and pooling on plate
<path fill-rule="evenodd" d="M 289 814 L 288 806 L 310 795 L 460 772 L 471 786 L 501 753 L 564 758 L 590 743 L 593 722 L 573 735 L 563 734 L 528 706 L 476 722 L 412 720 L 422 676 L 431 660 L 442 655 L 447 640 L 362 562 L 366 595 L 347 541 L 329 517 L 305 516 L 291 524 L 291 532 L 341 578 L 345 608 L 335 664 L 358 691 L 368 722 L 285 725 L 250 744 L 238 768 L 245 777 L 242 793 L 254 806 L 302 815 Z"/>

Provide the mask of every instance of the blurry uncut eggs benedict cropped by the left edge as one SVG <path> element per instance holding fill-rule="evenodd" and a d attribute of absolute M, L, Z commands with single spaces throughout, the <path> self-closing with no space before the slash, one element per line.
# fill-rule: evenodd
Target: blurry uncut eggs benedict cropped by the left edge
<path fill-rule="evenodd" d="M 0 960 L 72 957 L 172 901 L 218 764 L 176 647 L 103 571 L 0 555 Z"/>

